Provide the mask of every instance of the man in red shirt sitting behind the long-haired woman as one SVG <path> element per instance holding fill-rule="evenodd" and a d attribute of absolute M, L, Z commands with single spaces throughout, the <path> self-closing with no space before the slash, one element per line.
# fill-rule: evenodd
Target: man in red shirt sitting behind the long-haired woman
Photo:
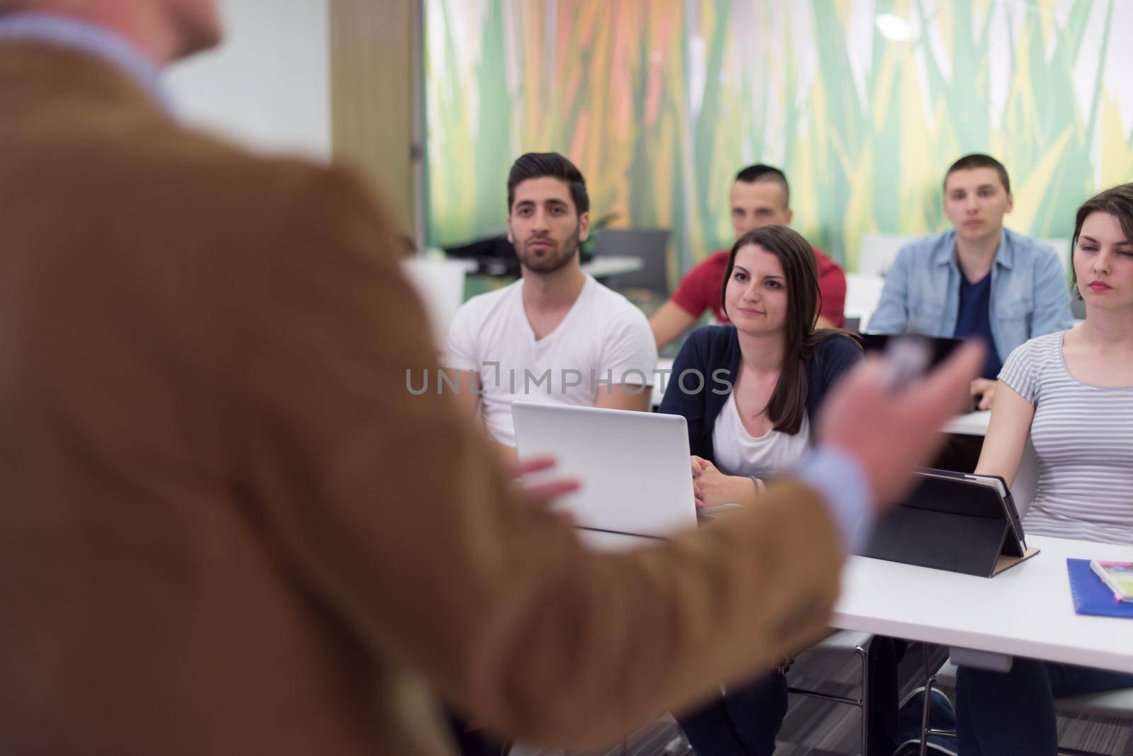
<path fill-rule="evenodd" d="M 732 184 L 732 227 L 735 238 L 761 225 L 790 225 L 794 214 L 789 203 L 790 189 L 783 171 L 763 164 L 743 169 L 736 173 Z M 812 249 L 818 263 L 818 287 L 823 294 L 818 325 L 841 328 L 845 325 L 842 313 L 846 299 L 845 273 L 818 248 Z M 692 328 L 708 308 L 712 308 L 718 323 L 729 323 L 721 309 L 719 291 L 730 252 L 729 249 L 713 252 L 689 270 L 673 298 L 662 304 L 649 319 L 658 351 Z"/>

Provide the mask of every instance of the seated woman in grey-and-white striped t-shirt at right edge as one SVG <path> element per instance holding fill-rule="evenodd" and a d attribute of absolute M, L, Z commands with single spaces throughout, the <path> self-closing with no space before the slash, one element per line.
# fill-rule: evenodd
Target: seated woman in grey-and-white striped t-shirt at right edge
<path fill-rule="evenodd" d="M 1030 433 L 1039 482 L 1023 529 L 1133 544 L 1133 183 L 1079 208 L 1073 247 L 1085 321 L 1007 358 L 976 472 L 1010 483 Z M 1126 687 L 1133 675 L 1029 659 L 1005 675 L 962 668 L 960 754 L 1056 754 L 1055 698 Z"/>

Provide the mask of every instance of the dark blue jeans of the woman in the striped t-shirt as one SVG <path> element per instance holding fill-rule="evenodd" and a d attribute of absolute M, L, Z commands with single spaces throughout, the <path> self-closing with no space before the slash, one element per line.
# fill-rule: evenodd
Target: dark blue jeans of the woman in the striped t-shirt
<path fill-rule="evenodd" d="M 960 756 L 1058 753 L 1055 698 L 1133 688 L 1133 675 L 1033 659 L 1010 672 L 961 667 L 956 675 Z"/>

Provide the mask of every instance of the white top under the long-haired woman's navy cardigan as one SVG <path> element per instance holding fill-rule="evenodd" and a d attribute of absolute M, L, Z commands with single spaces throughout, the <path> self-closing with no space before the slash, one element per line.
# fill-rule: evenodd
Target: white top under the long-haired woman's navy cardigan
<path fill-rule="evenodd" d="M 716 450 L 716 466 L 724 474 L 774 478 L 794 466 L 807 454 L 810 419 L 803 412 L 802 424 L 794 436 L 773 428 L 756 438 L 743 427 L 740 411 L 735 406 L 735 392 L 732 392 L 727 395 L 724 409 L 716 415 L 712 443 Z"/>

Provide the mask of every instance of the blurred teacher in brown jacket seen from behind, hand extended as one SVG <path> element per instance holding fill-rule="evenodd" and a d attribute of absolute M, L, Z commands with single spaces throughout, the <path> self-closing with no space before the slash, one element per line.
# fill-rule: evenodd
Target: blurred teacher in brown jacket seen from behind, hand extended
<path fill-rule="evenodd" d="M 0 750 L 435 754 L 434 694 L 599 742 L 821 633 L 844 500 L 900 493 L 978 353 L 864 368 L 799 481 L 588 553 L 406 390 L 433 350 L 358 183 L 167 112 L 216 36 L 212 0 L 0 0 Z"/>

